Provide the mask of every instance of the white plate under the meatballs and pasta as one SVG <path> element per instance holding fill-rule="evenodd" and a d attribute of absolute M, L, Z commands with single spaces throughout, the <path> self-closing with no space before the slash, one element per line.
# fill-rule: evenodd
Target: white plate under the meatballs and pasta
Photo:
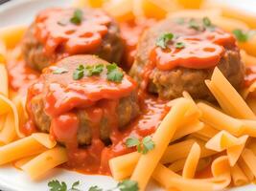
<path fill-rule="evenodd" d="M 67 7 L 72 2 L 72 0 L 12 0 L 9 3 L 0 6 L 0 27 L 29 24 L 32 22 L 37 11 L 47 7 Z M 226 0 L 226 2 L 232 3 L 232 5 L 236 7 L 240 7 L 242 4 L 242 9 L 246 11 L 254 11 L 256 13 L 255 0 Z M 116 182 L 110 177 L 88 176 L 62 169 L 55 169 L 51 174 L 48 174 L 45 179 L 35 182 L 30 180 L 22 171 L 14 169 L 10 165 L 0 168 L 0 189 L 3 191 L 46 191 L 49 190 L 47 186 L 48 181 L 53 179 L 65 181 L 68 186 L 73 182 L 80 180 L 80 188 L 84 191 L 88 190 L 91 185 L 98 185 L 105 189 L 113 188 L 116 185 Z M 147 190 L 160 189 L 151 181 Z M 256 186 L 246 185 L 244 187 L 232 189 L 232 191 L 242 190 L 256 190 Z"/>

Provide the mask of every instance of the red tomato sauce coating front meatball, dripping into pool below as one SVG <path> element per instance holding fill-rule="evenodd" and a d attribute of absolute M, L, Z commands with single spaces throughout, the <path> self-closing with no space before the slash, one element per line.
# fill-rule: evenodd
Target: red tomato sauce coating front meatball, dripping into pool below
<path fill-rule="evenodd" d="M 44 111 L 52 118 L 50 135 L 65 144 L 68 151 L 68 162 L 65 168 L 89 174 L 109 175 L 108 160 L 134 151 L 125 145 L 126 138 L 132 136 L 144 138 L 151 135 L 169 108 L 166 101 L 147 96 L 141 102 L 141 115 L 131 121 L 123 131 L 118 129 L 116 108 L 120 98 L 130 95 L 136 89 L 136 83 L 126 74 L 120 83 L 109 82 L 103 76 L 84 76 L 80 80 L 67 79 L 72 76 L 60 74 L 63 80 L 45 82 L 56 66 L 43 71 L 38 82 L 28 92 L 27 111 L 32 121 L 23 127 L 23 132 L 30 134 L 36 131 L 30 100 L 43 95 Z M 102 74 L 105 75 L 105 74 Z M 58 76 L 59 77 L 59 76 Z M 65 82 L 68 80 L 68 83 Z M 80 119 L 75 111 L 82 109 L 90 119 L 92 130 L 91 143 L 81 148 L 78 143 Z M 110 131 L 110 145 L 100 138 L 102 118 L 106 117 Z"/>

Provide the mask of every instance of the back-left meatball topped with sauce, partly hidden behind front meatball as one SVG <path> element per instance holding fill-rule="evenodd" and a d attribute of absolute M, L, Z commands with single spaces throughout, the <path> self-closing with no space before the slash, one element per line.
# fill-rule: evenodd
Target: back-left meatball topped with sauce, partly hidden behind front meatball
<path fill-rule="evenodd" d="M 74 54 L 96 54 L 119 63 L 124 43 L 119 27 L 105 11 L 48 9 L 39 12 L 22 40 L 27 64 L 41 71 Z"/>

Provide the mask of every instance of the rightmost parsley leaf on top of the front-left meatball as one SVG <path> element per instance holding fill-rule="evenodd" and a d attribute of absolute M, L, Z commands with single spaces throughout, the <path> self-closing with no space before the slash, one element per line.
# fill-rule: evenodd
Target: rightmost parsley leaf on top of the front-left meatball
<path fill-rule="evenodd" d="M 106 65 L 106 77 L 109 81 L 121 82 L 124 74 L 115 63 Z"/>

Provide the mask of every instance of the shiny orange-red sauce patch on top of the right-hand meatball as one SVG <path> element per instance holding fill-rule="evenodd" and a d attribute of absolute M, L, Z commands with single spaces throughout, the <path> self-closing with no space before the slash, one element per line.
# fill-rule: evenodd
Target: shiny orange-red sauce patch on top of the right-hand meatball
<path fill-rule="evenodd" d="M 236 40 L 231 33 L 216 27 L 202 28 L 200 25 L 198 21 L 198 29 L 191 29 L 186 22 L 174 24 L 174 30 L 171 30 L 174 38 L 167 42 L 165 49 L 153 47 L 150 53 L 151 64 L 161 71 L 170 71 L 175 67 L 208 69 L 217 66 L 224 47 L 235 47 Z M 177 47 L 177 43 L 183 46 Z"/>

